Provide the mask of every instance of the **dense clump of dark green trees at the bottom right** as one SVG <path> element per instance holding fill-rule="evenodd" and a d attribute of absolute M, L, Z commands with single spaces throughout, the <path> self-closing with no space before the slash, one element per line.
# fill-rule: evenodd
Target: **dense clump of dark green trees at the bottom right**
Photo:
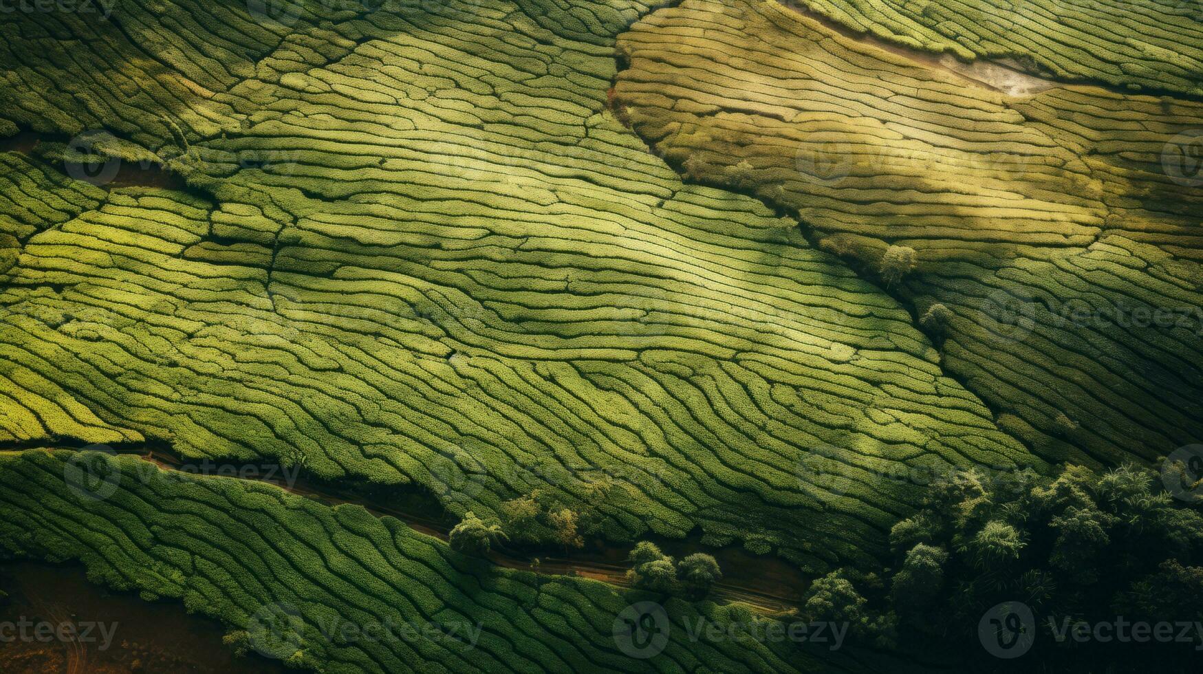
<path fill-rule="evenodd" d="M 959 635 L 976 650 L 984 613 L 1023 602 L 1043 638 L 1079 646 L 1072 657 L 1085 662 L 1091 654 L 1118 656 L 1102 643 L 1092 642 L 1094 651 L 1054 639 L 1047 616 L 1056 616 L 1059 629 L 1118 616 L 1203 617 L 1203 515 L 1143 468 L 1097 474 L 1067 466 L 1056 477 L 1029 469 L 996 480 L 959 474 L 934 485 L 923 509 L 894 526 L 890 543 L 896 570 L 879 610 L 920 639 Z M 828 577 L 816 581 L 806 609 L 854 620 L 869 610 L 860 599 L 847 579 Z M 1069 657 L 1069 648 L 1061 650 Z"/>

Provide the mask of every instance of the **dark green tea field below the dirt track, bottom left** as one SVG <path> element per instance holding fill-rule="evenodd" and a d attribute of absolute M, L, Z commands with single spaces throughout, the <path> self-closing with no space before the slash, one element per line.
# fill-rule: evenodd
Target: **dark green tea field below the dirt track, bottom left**
<path fill-rule="evenodd" d="M 220 619 L 231 643 L 331 674 L 863 670 L 818 644 L 807 654 L 755 629 L 729 634 L 771 621 L 711 603 L 665 602 L 653 642 L 634 643 L 620 628 L 627 607 L 660 597 L 500 569 L 356 506 L 132 456 L 0 454 L 0 542 L 79 560 L 108 587 L 182 599 Z"/>

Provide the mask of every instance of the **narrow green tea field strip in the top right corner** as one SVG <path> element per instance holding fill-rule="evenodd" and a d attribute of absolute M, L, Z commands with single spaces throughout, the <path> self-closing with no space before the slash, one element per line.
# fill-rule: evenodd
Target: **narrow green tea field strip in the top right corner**
<path fill-rule="evenodd" d="M 790 2 L 793 4 L 793 2 Z M 1198 0 L 798 0 L 858 34 L 1132 90 L 1203 95 Z"/>

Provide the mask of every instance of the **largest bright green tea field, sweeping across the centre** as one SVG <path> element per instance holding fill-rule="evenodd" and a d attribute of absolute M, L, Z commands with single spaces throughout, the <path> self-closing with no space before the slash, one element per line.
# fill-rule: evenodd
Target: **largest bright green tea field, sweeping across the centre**
<path fill-rule="evenodd" d="M 203 13 L 155 6 L 160 28 Z M 897 303 L 794 220 L 682 184 L 605 111 L 641 6 L 468 10 L 302 17 L 278 48 L 231 48 L 239 81 L 182 97 L 178 136 L 119 88 L 89 93 L 125 126 L 18 82 L 30 110 L 120 131 L 100 152 L 171 148 L 190 194 L 111 189 L 24 244 L 4 434 L 283 457 L 457 514 L 606 483 L 598 534 L 700 528 L 811 572 L 884 550 L 923 487 L 882 473 L 1035 461 Z M 114 72 L 141 63 L 140 16 L 84 42 Z M 241 53 L 269 55 L 251 76 Z"/>

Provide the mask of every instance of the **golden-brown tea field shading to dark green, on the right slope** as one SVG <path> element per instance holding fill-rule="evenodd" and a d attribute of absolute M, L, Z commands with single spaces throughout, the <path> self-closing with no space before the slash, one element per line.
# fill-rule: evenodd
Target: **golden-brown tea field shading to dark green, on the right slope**
<path fill-rule="evenodd" d="M 614 104 L 642 137 L 877 276 L 1043 457 L 1203 437 L 1203 105 L 1009 97 L 765 2 L 687 0 L 620 52 Z"/>

